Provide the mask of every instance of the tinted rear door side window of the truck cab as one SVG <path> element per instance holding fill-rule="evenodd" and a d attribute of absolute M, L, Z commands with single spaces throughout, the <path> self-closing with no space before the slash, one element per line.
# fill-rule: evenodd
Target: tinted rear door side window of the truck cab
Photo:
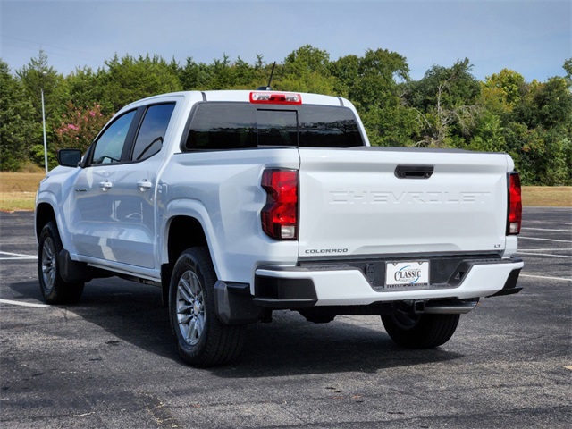
<path fill-rule="evenodd" d="M 130 161 L 141 161 L 154 156 L 163 147 L 164 134 L 171 120 L 174 103 L 151 105 L 147 108 Z"/>

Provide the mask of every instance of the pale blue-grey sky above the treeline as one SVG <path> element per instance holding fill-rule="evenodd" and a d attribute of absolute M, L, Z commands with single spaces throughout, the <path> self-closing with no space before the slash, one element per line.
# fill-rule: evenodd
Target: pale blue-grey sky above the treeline
<path fill-rule="evenodd" d="M 414 80 L 467 57 L 479 80 L 508 68 L 545 81 L 572 57 L 572 0 L 0 0 L 0 57 L 12 71 L 40 49 L 67 75 L 114 54 L 282 63 L 304 45 L 332 61 L 388 49 Z"/>

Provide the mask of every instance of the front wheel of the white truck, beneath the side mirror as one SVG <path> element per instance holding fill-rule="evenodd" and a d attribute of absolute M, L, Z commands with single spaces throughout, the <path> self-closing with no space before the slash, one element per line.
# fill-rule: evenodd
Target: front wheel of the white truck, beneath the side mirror
<path fill-rule="evenodd" d="M 60 275 L 57 256 L 63 250 L 55 222 L 48 222 L 39 234 L 38 280 L 39 290 L 48 304 L 72 304 L 83 293 L 84 282 L 64 282 Z"/>

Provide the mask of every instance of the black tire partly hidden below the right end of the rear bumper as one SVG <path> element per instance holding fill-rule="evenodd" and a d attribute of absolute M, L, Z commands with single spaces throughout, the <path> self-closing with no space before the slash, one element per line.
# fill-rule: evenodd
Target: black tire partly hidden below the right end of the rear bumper
<path fill-rule="evenodd" d="M 402 347 L 432 349 L 450 340 L 460 315 L 382 315 L 385 331 Z"/>

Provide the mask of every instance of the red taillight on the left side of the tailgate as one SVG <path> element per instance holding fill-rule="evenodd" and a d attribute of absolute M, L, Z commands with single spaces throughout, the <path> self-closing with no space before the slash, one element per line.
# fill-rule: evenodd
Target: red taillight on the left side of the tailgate
<path fill-rule="evenodd" d="M 268 237 L 278 240 L 298 238 L 298 172 L 296 170 L 265 170 L 262 188 L 268 194 L 260 213 L 262 229 Z"/>

